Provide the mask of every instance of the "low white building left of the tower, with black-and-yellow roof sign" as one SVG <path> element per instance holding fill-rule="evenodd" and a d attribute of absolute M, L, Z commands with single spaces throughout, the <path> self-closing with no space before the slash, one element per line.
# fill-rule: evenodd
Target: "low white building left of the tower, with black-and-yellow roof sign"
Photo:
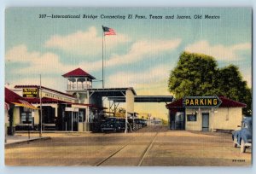
<path fill-rule="evenodd" d="M 53 90 L 39 85 L 15 85 L 15 91 L 19 93 L 26 101 L 31 102 L 35 107 L 40 108 L 42 102 L 42 123 L 43 131 L 78 131 L 79 123 L 84 122 L 85 114 L 89 110 L 89 105 L 81 103 L 79 107 L 73 107 L 73 104 L 79 102 L 77 96 Z M 17 95 L 18 96 L 18 95 Z M 40 100 L 40 96 L 42 97 Z M 22 119 L 24 111 L 20 108 L 15 112 L 16 130 L 24 130 L 24 121 Z M 87 111 L 86 111 L 87 110 Z M 40 126 L 40 112 L 29 113 L 33 115 L 32 125 L 34 130 Z M 83 126 L 80 125 L 83 128 Z"/>

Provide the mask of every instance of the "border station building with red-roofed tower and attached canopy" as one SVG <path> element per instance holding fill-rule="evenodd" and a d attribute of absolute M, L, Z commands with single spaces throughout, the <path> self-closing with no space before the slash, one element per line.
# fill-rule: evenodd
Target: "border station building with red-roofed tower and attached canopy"
<path fill-rule="evenodd" d="M 15 93 L 24 97 L 38 110 L 32 111 L 33 127 L 43 131 L 97 131 L 109 110 L 116 110 L 120 102 L 125 102 L 125 118 L 134 116 L 134 102 L 172 102 L 172 96 L 137 96 L 132 87 L 93 88 L 94 79 L 81 68 L 62 75 L 67 79 L 66 93 L 39 85 L 16 85 Z M 108 99 L 109 107 L 103 107 Z M 106 100 L 107 101 L 107 100 Z M 18 106 L 17 106 L 18 107 Z M 17 109 L 15 123 L 22 125 L 22 110 Z M 114 114 L 114 113 L 113 113 Z"/>

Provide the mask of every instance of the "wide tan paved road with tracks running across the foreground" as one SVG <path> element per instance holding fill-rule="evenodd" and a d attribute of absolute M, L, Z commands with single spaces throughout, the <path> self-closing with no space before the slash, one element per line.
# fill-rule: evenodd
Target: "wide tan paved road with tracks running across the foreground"
<path fill-rule="evenodd" d="M 50 140 L 5 149 L 6 165 L 251 165 L 230 134 L 170 131 L 148 126 L 133 133 L 49 133 Z"/>

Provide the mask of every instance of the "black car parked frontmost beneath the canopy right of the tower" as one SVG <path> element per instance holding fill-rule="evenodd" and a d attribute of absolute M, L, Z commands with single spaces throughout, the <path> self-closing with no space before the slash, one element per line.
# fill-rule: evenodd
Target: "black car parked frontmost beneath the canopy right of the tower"
<path fill-rule="evenodd" d="M 105 131 L 113 131 L 113 132 L 121 131 L 121 125 L 120 125 L 117 118 L 109 117 L 109 118 L 105 119 L 105 121 L 102 122 L 101 131 L 102 132 L 105 132 Z"/>

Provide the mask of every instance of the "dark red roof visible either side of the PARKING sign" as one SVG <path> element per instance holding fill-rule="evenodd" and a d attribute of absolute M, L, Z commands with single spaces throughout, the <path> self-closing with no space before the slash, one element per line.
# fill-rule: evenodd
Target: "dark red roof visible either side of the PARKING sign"
<path fill-rule="evenodd" d="M 245 103 L 233 101 L 225 96 L 218 96 L 218 98 L 222 101 L 219 107 L 247 107 Z M 177 101 L 166 105 L 166 108 L 172 107 L 183 107 L 183 99 L 178 99 Z"/>

